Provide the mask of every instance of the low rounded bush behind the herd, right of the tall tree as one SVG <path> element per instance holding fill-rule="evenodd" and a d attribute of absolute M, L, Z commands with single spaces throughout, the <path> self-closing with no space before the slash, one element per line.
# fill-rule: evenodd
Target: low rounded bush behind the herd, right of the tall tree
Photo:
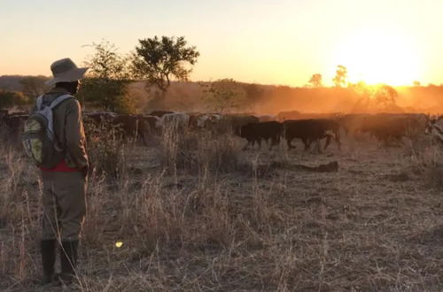
<path fill-rule="evenodd" d="M 202 86 L 206 87 L 204 98 L 212 111 L 222 114 L 245 104 L 245 89 L 233 79 L 219 79 Z"/>

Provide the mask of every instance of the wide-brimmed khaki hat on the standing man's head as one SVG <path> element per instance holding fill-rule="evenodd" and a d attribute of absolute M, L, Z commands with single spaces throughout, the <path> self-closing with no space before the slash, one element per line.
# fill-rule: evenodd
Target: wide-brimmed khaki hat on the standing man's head
<path fill-rule="evenodd" d="M 46 85 L 54 85 L 58 82 L 74 82 L 82 79 L 89 68 L 78 68 L 70 58 L 62 58 L 51 64 L 54 78 L 46 81 Z"/>

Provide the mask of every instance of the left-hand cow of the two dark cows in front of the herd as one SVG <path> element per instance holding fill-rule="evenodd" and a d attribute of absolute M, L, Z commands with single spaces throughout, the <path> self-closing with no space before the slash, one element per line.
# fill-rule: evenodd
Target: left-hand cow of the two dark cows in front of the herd
<path fill-rule="evenodd" d="M 240 136 L 247 140 L 244 150 L 251 145 L 254 146 L 255 142 L 259 144 L 261 148 L 261 140 L 268 141 L 270 139 L 269 150 L 273 146 L 280 143 L 280 137 L 283 134 L 283 125 L 277 121 L 268 121 L 260 123 L 250 123 L 240 127 Z"/>

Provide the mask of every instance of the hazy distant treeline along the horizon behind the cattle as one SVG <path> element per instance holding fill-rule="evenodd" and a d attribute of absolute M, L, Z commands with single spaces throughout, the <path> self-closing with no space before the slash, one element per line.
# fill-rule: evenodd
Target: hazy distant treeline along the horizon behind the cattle
<path fill-rule="evenodd" d="M 0 76 L 0 108 L 25 107 L 35 96 L 47 91 L 44 76 Z M 255 112 L 276 114 L 280 111 L 301 112 L 443 112 L 443 86 L 414 86 L 392 88 L 351 85 L 346 88 L 292 88 L 260 85 L 232 80 L 214 82 L 171 82 L 161 102 L 150 103 L 155 88 L 144 81 L 129 86 L 128 97 L 136 104 L 136 112 L 152 110 Z M 86 96 L 86 98 L 83 98 Z M 81 94 L 88 110 L 106 110 Z M 105 98 L 105 97 L 104 97 Z M 90 100 L 89 100 L 90 99 Z"/>

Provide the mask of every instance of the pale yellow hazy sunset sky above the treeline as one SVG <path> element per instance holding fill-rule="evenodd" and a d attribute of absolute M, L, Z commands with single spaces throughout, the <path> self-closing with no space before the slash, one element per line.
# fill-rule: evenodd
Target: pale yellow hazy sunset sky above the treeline
<path fill-rule="evenodd" d="M 126 53 L 154 35 L 200 52 L 193 81 L 301 86 L 351 81 L 443 83 L 443 0 L 0 0 L 0 75 L 51 75 L 105 39 Z"/>

